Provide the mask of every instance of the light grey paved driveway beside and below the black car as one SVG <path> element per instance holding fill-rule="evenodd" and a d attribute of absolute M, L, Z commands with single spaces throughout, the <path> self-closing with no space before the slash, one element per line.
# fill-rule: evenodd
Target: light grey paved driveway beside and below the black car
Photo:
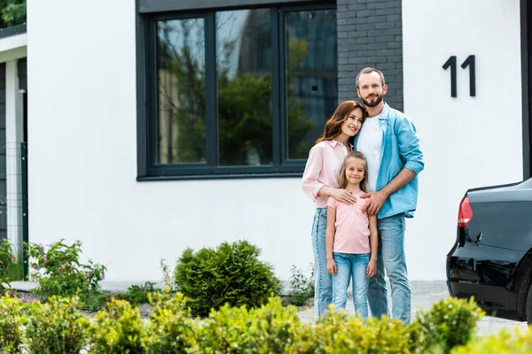
<path fill-rule="evenodd" d="M 412 288 L 412 318 L 419 309 L 429 309 L 434 302 L 449 296 L 445 281 L 411 281 Z M 388 294 L 389 294 L 388 289 Z M 348 312 L 354 312 L 353 302 L 348 300 L 346 306 Z M 312 319 L 312 313 L 302 311 L 299 313 L 302 320 Z M 520 327 L 522 331 L 527 330 L 526 322 L 512 321 L 508 319 L 496 319 L 485 316 L 478 325 L 480 335 L 497 334 L 502 328 L 512 330 L 513 327 Z"/>

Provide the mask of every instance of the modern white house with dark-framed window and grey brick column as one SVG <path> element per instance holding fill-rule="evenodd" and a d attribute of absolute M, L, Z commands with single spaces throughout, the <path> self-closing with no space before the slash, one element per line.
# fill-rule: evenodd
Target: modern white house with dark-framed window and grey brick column
<path fill-rule="evenodd" d="M 28 0 L 20 56 L 0 73 L 7 146 L 27 142 L 29 241 L 81 240 L 108 280 L 147 281 L 160 258 L 246 238 L 287 279 L 312 262 L 309 148 L 375 66 L 426 158 L 410 277 L 442 280 L 465 190 L 531 172 L 531 12 L 525 0 Z"/>

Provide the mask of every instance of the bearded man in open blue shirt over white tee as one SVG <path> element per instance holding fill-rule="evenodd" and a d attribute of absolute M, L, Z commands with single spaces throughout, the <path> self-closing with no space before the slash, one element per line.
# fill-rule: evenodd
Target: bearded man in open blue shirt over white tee
<path fill-rule="evenodd" d="M 355 148 L 368 160 L 368 193 L 363 211 L 377 214 L 379 252 L 377 274 L 370 278 L 372 315 L 389 316 L 387 277 L 392 289 L 392 317 L 411 320 L 411 287 L 404 256 L 404 218 L 412 218 L 418 201 L 418 173 L 423 170 L 416 127 L 402 112 L 384 103 L 384 75 L 367 67 L 356 76 L 356 94 L 368 118 L 355 138 Z"/>

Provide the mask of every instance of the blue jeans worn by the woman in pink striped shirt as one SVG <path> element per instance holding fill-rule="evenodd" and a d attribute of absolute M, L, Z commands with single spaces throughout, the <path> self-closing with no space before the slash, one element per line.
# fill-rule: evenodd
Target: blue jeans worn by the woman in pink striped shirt
<path fill-rule="evenodd" d="M 332 304 L 332 275 L 327 272 L 325 230 L 327 208 L 317 208 L 312 224 L 312 248 L 314 250 L 314 317 L 317 318 Z"/>

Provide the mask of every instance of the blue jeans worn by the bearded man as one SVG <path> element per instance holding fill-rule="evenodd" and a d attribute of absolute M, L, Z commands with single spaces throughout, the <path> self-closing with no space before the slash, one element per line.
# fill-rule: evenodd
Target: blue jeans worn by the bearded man
<path fill-rule="evenodd" d="M 387 304 L 387 288 L 384 280 L 387 277 L 392 288 L 392 317 L 411 321 L 411 287 L 406 271 L 404 257 L 404 214 L 378 219 L 379 253 L 377 258 L 377 274 L 370 278 L 368 299 L 374 317 L 389 317 Z"/>

